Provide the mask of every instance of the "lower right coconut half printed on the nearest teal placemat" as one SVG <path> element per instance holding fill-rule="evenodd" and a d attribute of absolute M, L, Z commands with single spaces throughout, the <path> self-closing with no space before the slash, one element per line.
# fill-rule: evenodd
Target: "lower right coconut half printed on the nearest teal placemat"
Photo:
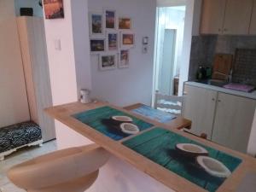
<path fill-rule="evenodd" d="M 215 160 L 207 156 L 198 156 L 196 158 L 197 163 L 209 174 L 215 177 L 229 177 L 231 175 L 230 170 L 224 166 L 224 164 L 218 160 Z"/>

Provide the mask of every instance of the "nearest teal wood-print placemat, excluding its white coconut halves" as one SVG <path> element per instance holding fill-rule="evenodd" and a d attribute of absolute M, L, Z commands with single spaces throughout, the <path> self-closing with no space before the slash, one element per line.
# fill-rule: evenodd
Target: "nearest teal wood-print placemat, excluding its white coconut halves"
<path fill-rule="evenodd" d="M 234 172 L 241 163 L 240 159 L 230 154 L 224 154 L 216 149 L 196 143 L 189 138 L 162 128 L 155 128 L 144 132 L 137 137 L 125 141 L 123 144 L 201 188 L 210 192 L 216 191 L 224 183 L 225 179 L 209 175 L 195 163 L 195 159 L 179 154 L 175 149 L 177 143 L 194 143 L 206 148 L 209 156 L 221 161 L 230 169 L 230 172 Z"/>

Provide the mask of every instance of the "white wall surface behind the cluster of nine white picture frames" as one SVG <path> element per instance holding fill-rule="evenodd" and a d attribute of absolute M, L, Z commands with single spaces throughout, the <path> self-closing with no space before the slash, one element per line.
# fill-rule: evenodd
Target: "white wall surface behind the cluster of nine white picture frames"
<path fill-rule="evenodd" d="M 91 55 L 93 96 L 124 106 L 136 102 L 150 104 L 154 64 L 155 0 L 89 0 L 89 10 L 115 9 L 132 18 L 136 47 L 131 49 L 130 67 L 100 72 L 98 57 Z M 142 53 L 142 38 L 149 37 L 148 54 Z"/>

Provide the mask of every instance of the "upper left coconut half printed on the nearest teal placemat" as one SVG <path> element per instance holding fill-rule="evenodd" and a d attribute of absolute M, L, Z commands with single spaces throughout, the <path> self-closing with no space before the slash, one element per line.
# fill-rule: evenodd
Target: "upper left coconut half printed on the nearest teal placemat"
<path fill-rule="evenodd" d="M 207 155 L 208 151 L 206 148 L 202 148 L 199 145 L 195 145 L 192 143 L 178 143 L 176 145 L 176 148 L 183 152 L 184 154 L 190 154 L 190 155 Z"/>

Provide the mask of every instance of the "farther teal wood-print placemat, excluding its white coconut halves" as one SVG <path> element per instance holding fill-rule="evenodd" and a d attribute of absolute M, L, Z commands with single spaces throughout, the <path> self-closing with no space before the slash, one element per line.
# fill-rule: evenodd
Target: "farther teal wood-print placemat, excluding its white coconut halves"
<path fill-rule="evenodd" d="M 89 125 L 91 128 L 96 131 L 101 132 L 103 135 L 112 138 L 115 141 L 119 141 L 122 138 L 128 137 L 129 135 L 121 132 L 119 129 L 112 125 L 107 125 L 104 123 L 104 120 L 110 119 L 112 116 L 116 115 L 125 115 L 131 117 L 133 120 L 133 124 L 137 125 L 140 131 L 146 130 L 152 127 L 152 124 L 149 124 L 141 119 L 137 119 L 136 117 L 121 112 L 115 108 L 110 108 L 108 106 L 102 108 L 96 108 L 89 111 L 84 111 L 82 113 L 73 114 L 73 118 L 78 119 L 85 125 Z"/>

